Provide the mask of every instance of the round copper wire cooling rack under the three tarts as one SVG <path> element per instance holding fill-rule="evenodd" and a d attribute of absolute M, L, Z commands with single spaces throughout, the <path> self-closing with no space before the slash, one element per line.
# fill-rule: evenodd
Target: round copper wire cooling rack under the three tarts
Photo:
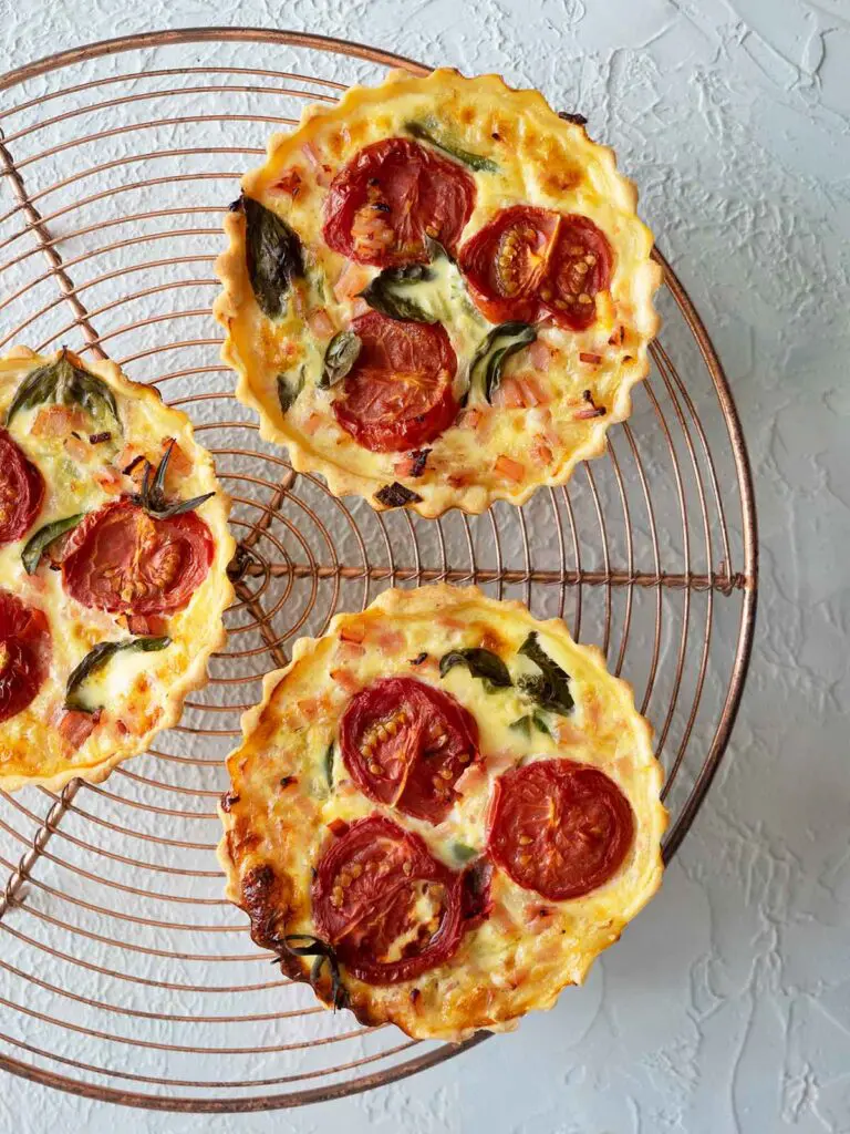
<path fill-rule="evenodd" d="M 664 331 L 630 422 L 566 490 L 522 509 L 423 521 L 335 500 L 233 399 L 210 307 L 239 177 L 305 104 L 390 66 L 425 73 L 357 44 L 205 28 L 99 43 L 0 79 L 0 353 L 66 344 L 158 386 L 215 455 L 243 548 L 227 651 L 180 726 L 103 785 L 0 796 L 0 1066 L 39 1083 L 155 1109 L 258 1110 L 464 1050 L 360 1027 L 281 979 L 222 898 L 213 853 L 223 758 L 263 672 L 383 587 L 476 582 L 600 644 L 655 727 L 668 860 L 729 741 L 756 608 L 753 488 L 722 369 L 663 260 Z"/>

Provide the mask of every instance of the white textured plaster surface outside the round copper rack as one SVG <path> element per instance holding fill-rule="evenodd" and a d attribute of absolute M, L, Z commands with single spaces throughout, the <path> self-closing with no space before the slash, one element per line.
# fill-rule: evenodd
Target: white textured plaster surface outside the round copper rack
<path fill-rule="evenodd" d="M 588 115 L 720 349 L 763 552 L 726 762 L 662 895 L 568 1005 L 417 1078 L 278 1115 L 119 1111 L 5 1077 L 0 1128 L 850 1132 L 850 3 L 0 0 L 0 14 L 2 70 L 156 27 L 286 26 L 498 70 Z"/>

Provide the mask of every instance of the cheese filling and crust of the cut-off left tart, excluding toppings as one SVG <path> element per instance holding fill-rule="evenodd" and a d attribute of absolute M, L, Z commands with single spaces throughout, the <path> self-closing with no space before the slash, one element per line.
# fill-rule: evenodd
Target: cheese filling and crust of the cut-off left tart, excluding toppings
<path fill-rule="evenodd" d="M 52 358 L 23 347 L 0 359 L 0 421 L 27 374 L 49 362 Z M 35 699 L 0 723 L 0 786 L 6 790 L 25 784 L 58 789 L 76 776 L 102 780 L 120 760 L 144 752 L 155 731 L 177 721 L 186 693 L 204 684 L 206 659 L 223 641 L 221 615 L 232 598 L 226 574 L 233 553 L 227 530 L 229 501 L 215 480 L 212 458 L 194 440 L 188 417 L 164 406 L 152 387 L 130 382 L 112 363 L 80 365 L 111 389 L 121 431 L 110 417 L 92 421 L 91 432 L 86 426 L 78 431 L 78 438 L 40 434 L 36 421 L 49 408 L 44 405 L 17 413 L 9 426 L 10 435 L 44 479 L 44 501 L 24 536 L 0 548 L 0 589 L 44 611 L 52 653 L 49 677 Z M 88 440 L 104 431 L 110 432 L 107 440 Z M 120 493 L 137 491 L 120 469 L 137 456 L 155 465 L 170 438 L 176 439 L 181 455 L 172 455 L 172 462 L 182 462 L 173 485 L 176 493 L 188 499 L 215 492 L 198 509 L 213 534 L 214 559 L 189 603 L 170 615 L 164 629 L 158 632 L 171 637 L 169 646 L 155 653 L 119 653 L 86 679 L 80 701 L 102 705 L 103 711 L 91 736 L 74 750 L 59 729 L 69 675 L 93 646 L 134 635 L 119 616 L 85 607 L 67 594 L 61 573 L 51 570 L 44 559 L 35 574 L 28 575 L 20 555 L 27 540 L 46 524 L 96 511 Z M 167 488 L 172 488 L 169 480 Z"/>

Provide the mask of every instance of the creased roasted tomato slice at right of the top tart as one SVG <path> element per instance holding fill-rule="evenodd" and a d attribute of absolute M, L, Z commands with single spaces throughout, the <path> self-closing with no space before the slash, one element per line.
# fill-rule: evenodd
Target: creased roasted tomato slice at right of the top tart
<path fill-rule="evenodd" d="M 491 322 L 551 315 L 580 331 L 596 319 L 596 294 L 611 282 L 613 253 L 586 217 L 512 205 L 467 240 L 459 263 Z"/>

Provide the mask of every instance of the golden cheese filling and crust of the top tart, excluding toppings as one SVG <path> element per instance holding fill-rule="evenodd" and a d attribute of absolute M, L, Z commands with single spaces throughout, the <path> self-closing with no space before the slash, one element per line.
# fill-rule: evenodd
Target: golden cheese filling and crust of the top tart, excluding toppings
<path fill-rule="evenodd" d="M 360 310 L 356 305 L 363 304 L 355 293 L 377 274 L 376 268 L 350 265 L 324 243 L 332 177 L 365 145 L 409 137 L 405 124 L 426 120 L 441 137 L 495 164 L 494 170 L 464 167 L 477 191 L 464 243 L 500 209 L 527 203 L 590 218 L 613 248 L 614 270 L 610 290 L 596 297 L 592 327 L 580 332 L 538 328 L 547 348 L 543 369 L 529 362 L 527 350 L 505 362 L 503 381 L 534 375 L 545 401 L 507 408 L 473 392 L 469 405 L 475 413 L 460 415 L 430 442 L 433 451 L 424 474 L 411 477 L 403 471 L 403 454 L 369 452 L 338 425 L 332 403 L 341 387 L 317 386 L 332 331 L 316 337 L 309 315 L 321 310 L 333 330 L 347 328 Z M 295 196 L 281 187 L 283 175 L 292 171 L 299 178 Z M 308 108 L 298 130 L 272 137 L 265 164 L 245 177 L 244 189 L 298 234 L 307 281 L 303 303 L 290 301 L 283 318 L 270 321 L 248 281 L 245 219 L 228 214 L 230 248 L 218 262 L 224 293 L 215 305 L 228 331 L 223 357 L 239 374 L 238 396 L 260 411 L 263 435 L 286 445 L 296 468 L 321 472 L 332 492 L 373 498 L 398 481 L 423 497 L 414 507 L 425 516 L 452 506 L 478 513 L 500 498 L 521 503 L 536 486 L 563 483 L 579 460 L 598 455 L 607 428 L 629 415 L 629 390 L 647 373 L 647 346 L 657 328 L 652 297 L 661 272 L 649 259 L 652 234 L 635 214 L 634 186 L 618 174 L 613 152 L 558 118 L 537 92 L 510 90 L 493 75 L 466 79 L 437 70 L 420 79 L 396 73 L 376 90 L 349 91 L 337 108 Z M 431 293 L 430 301 L 448 301 L 451 308 L 444 325 L 458 356 L 460 393 L 473 354 L 493 324 L 471 305 L 459 276 L 451 284 L 439 279 L 422 287 Z M 283 414 L 277 376 L 301 365 L 305 387 Z M 586 390 L 605 407 L 604 416 L 577 416 L 587 408 Z M 369 502 L 379 507 L 374 499 Z"/>

